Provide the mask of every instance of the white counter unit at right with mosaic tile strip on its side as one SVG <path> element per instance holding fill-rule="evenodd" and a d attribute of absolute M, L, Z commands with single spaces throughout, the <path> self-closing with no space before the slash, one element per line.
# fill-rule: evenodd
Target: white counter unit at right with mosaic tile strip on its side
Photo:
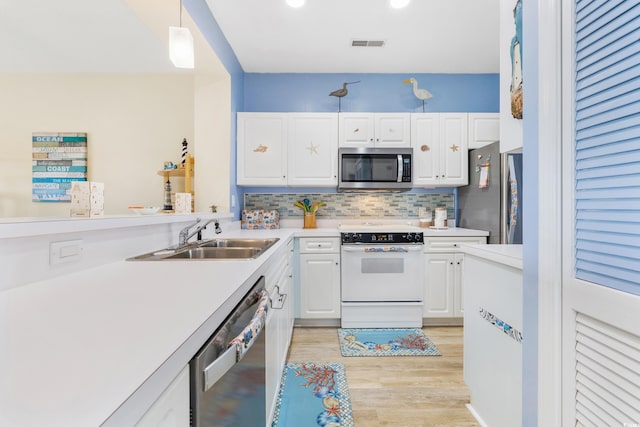
<path fill-rule="evenodd" d="M 522 245 L 462 245 L 464 380 L 483 425 L 522 423 Z"/>

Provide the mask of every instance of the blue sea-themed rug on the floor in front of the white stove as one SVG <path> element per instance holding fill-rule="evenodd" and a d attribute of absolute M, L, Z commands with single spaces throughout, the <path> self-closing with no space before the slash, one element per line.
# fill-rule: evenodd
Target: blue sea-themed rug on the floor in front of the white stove
<path fill-rule="evenodd" d="M 440 356 L 422 329 L 338 329 L 343 356 Z"/>

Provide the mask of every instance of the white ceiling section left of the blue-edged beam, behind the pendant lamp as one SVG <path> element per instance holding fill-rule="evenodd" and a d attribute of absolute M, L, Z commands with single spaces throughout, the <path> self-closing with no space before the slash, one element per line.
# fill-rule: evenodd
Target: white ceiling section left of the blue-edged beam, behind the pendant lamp
<path fill-rule="evenodd" d="M 171 64 L 179 0 L 0 0 L 0 72 L 189 73 Z M 188 13 L 198 72 L 226 73 Z"/>

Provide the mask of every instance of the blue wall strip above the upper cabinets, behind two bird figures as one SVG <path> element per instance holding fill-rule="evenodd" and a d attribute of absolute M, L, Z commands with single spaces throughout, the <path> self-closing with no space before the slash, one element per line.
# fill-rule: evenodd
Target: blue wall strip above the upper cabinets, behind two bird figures
<path fill-rule="evenodd" d="M 340 101 L 343 112 L 421 112 L 409 77 L 433 98 L 426 112 L 499 111 L 498 74 L 256 74 L 244 77 L 244 108 L 252 112 L 337 112 L 338 98 L 329 93 L 344 82 L 349 93 Z"/>

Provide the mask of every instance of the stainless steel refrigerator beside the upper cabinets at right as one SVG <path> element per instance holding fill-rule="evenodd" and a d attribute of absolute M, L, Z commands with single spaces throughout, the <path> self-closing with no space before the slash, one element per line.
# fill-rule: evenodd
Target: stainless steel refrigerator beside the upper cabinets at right
<path fill-rule="evenodd" d="M 469 150 L 469 185 L 458 188 L 458 227 L 486 230 L 489 243 L 522 243 L 522 154 L 500 144 Z"/>

